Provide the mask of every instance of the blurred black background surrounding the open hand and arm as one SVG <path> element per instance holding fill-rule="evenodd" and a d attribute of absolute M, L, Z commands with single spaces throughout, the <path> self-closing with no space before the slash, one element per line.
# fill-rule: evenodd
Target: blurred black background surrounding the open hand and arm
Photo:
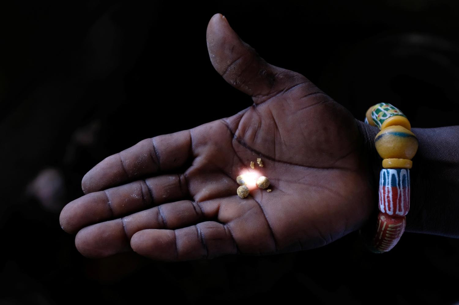
<path fill-rule="evenodd" d="M 196 3 L 1 2 L 0 304 L 459 301 L 459 241 L 440 236 L 405 233 L 383 255 L 365 252 L 357 233 L 210 261 L 78 253 L 58 217 L 92 166 L 251 105 L 209 61 L 214 13 L 358 118 L 386 101 L 414 127 L 459 123 L 457 1 Z"/>

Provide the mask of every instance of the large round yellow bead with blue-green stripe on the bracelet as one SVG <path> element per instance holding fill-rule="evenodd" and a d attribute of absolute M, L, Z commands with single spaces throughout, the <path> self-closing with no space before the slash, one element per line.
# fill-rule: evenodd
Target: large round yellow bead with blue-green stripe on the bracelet
<path fill-rule="evenodd" d="M 413 159 L 418 150 L 418 139 L 402 126 L 389 126 L 375 137 L 375 147 L 383 159 Z"/>

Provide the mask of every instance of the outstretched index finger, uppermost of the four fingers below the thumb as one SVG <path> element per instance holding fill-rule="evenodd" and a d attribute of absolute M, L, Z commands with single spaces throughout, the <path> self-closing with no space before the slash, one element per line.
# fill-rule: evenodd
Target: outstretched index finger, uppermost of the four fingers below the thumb
<path fill-rule="evenodd" d="M 84 194 L 121 183 L 179 168 L 192 157 L 190 130 L 145 139 L 134 146 L 106 157 L 84 175 Z"/>

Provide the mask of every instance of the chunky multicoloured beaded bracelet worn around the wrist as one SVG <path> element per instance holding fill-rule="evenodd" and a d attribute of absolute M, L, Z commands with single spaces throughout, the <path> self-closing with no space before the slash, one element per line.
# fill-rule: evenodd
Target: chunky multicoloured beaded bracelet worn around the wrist
<path fill-rule="evenodd" d="M 375 147 L 383 159 L 376 232 L 369 232 L 365 242 L 370 251 L 383 253 L 391 250 L 405 231 L 410 198 L 409 169 L 418 150 L 418 139 L 411 132 L 408 118 L 391 104 L 370 107 L 365 123 L 380 128 Z"/>

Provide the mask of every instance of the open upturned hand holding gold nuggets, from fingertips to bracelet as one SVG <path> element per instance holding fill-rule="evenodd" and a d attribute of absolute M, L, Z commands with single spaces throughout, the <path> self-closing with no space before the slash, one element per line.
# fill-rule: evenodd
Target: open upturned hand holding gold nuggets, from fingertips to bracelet
<path fill-rule="evenodd" d="M 305 250 L 358 230 L 375 211 L 366 145 L 374 128 L 301 74 L 268 64 L 220 14 L 209 22 L 207 47 L 217 72 L 254 104 L 145 139 L 91 169 L 85 195 L 60 217 L 66 232 L 78 232 L 83 255 L 132 249 L 183 261 Z M 264 166 L 250 169 L 257 158 Z M 239 198 L 235 179 L 246 171 L 269 177 L 272 192 L 249 186 Z"/>

